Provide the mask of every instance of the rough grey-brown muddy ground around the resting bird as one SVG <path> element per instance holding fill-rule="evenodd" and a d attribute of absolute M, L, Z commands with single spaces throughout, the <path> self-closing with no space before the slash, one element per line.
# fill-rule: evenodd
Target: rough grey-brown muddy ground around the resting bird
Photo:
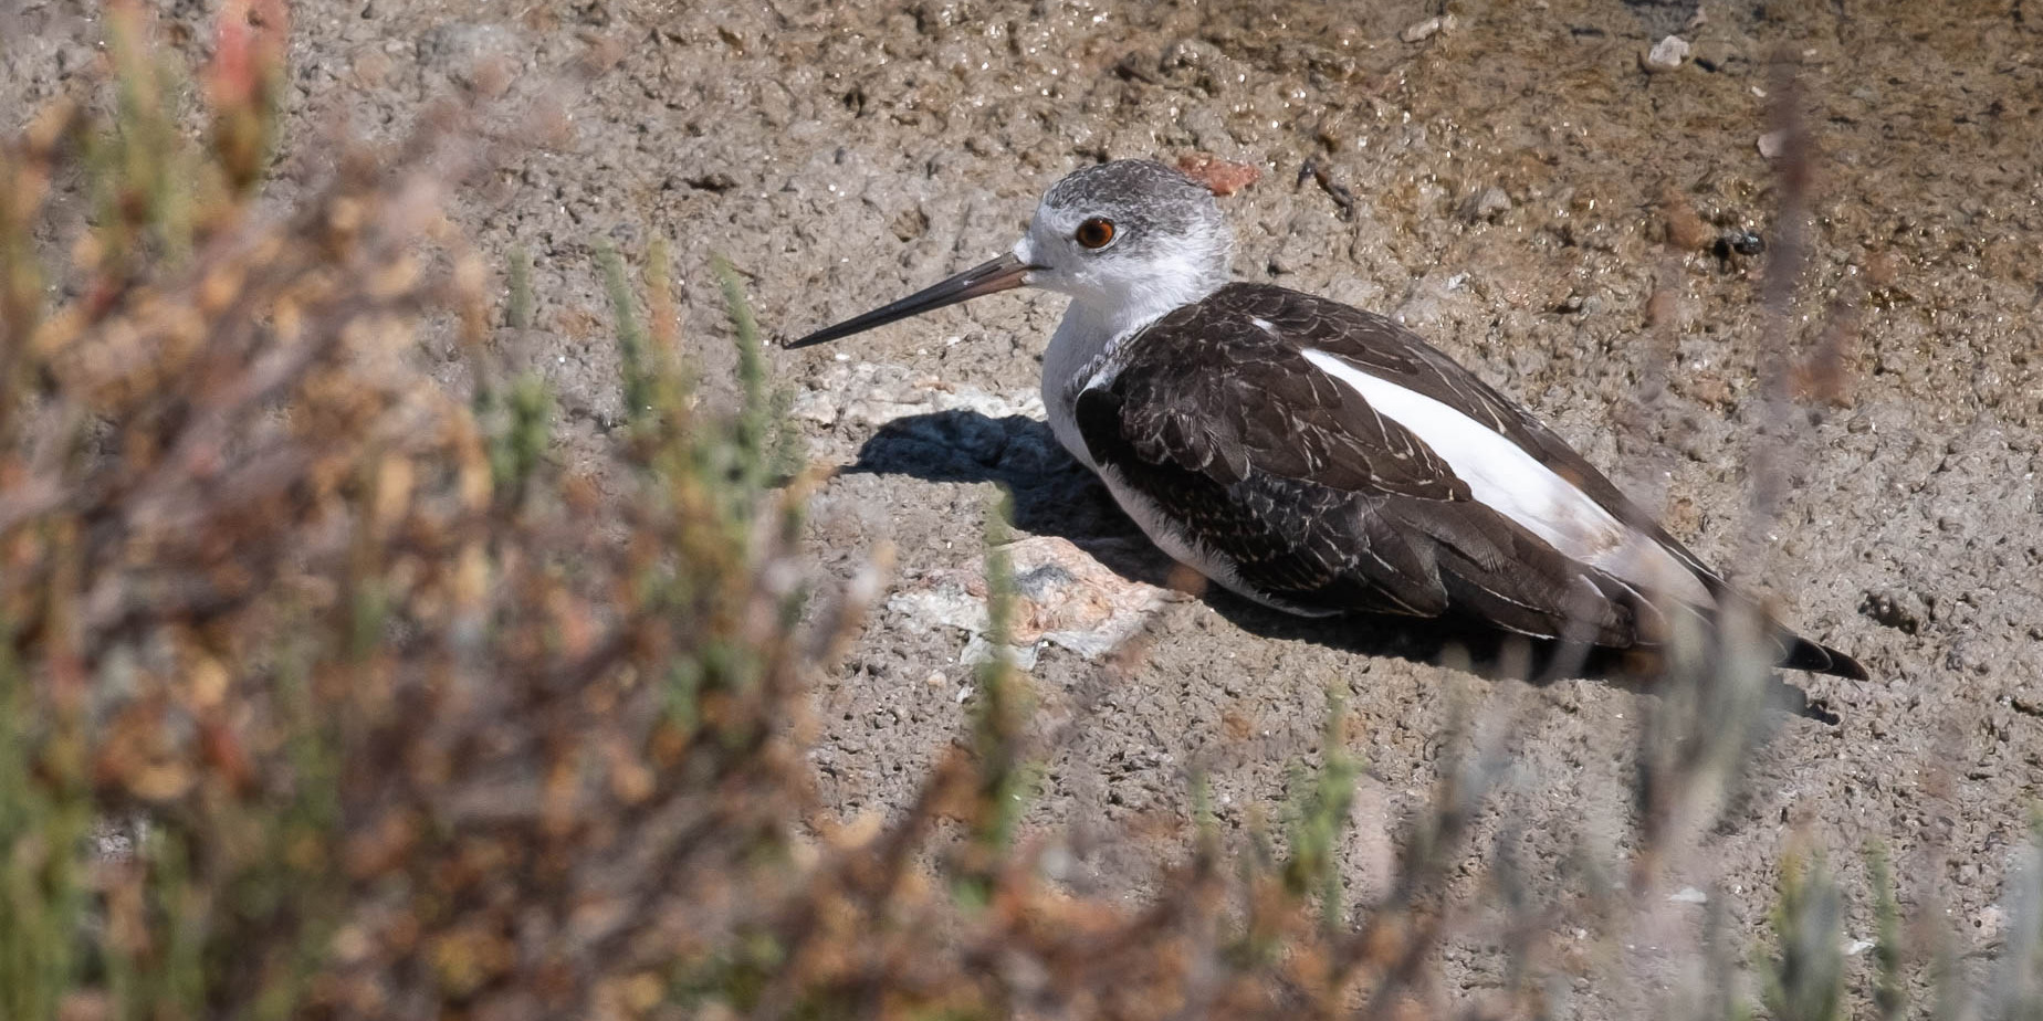
<path fill-rule="evenodd" d="M 535 329 L 501 343 L 562 396 L 558 455 L 595 464 L 619 415 L 603 241 L 637 259 L 672 239 L 684 335 L 719 380 L 731 357 L 711 253 L 744 272 L 770 331 L 799 335 L 1003 251 L 1077 165 L 1252 163 L 1261 182 L 1224 200 L 1240 278 L 1404 317 L 1784 621 L 1871 670 L 1865 684 L 1806 680 L 1843 723 L 1781 715 L 1665 888 L 1706 890 L 1757 933 L 1784 849 L 1812 847 L 1861 937 L 1878 841 L 1904 909 L 1949 925 L 1965 968 L 1990 968 L 2043 780 L 2043 12 L 1448 6 L 1442 25 L 1416 0 L 304 2 L 274 196 L 319 180 L 333 133 L 394 143 L 435 98 L 486 100 L 505 167 L 454 218 L 498 265 L 515 247 L 533 255 Z M 172 43 L 202 55 L 206 4 L 161 8 Z M 1690 57 L 1649 74 L 1669 33 Z M 96 59 L 94 14 L 69 2 L 0 0 L 0 39 L 10 129 L 82 88 Z M 1775 53 L 1798 63 L 1818 145 L 1808 278 L 1784 337 L 1761 300 L 1781 237 L 1761 151 Z M 1301 178 L 1308 159 L 1324 184 Z M 1747 233 L 1773 245 L 1741 253 Z M 1056 296 L 995 296 L 774 355 L 811 455 L 846 466 L 813 506 L 821 578 L 891 545 L 899 594 L 968 602 L 1007 486 L 1022 535 L 1071 539 L 1120 572 L 1101 586 L 1162 580 L 1038 421 L 1060 312 Z M 1837 370 L 1802 372 L 1816 394 L 1771 417 L 1763 380 L 1810 351 Z M 1665 392 L 1643 396 L 1659 380 Z M 1769 425 L 1790 441 L 1788 484 L 1755 519 Z M 813 760 L 846 819 L 897 811 L 966 717 L 975 639 L 938 602 L 897 598 L 819 680 Z M 1189 774 L 1209 776 L 1226 825 L 1275 817 L 1338 692 L 1369 766 L 1342 849 L 1357 898 L 1383 890 L 1412 813 L 1463 758 L 1461 723 L 1477 721 L 1508 768 L 1455 890 L 1489 903 L 1510 858 L 1524 896 L 1575 925 L 1583 876 L 1622 874 L 1638 839 L 1630 780 L 1655 696 L 1373 653 L 1399 641 L 1314 633 L 1222 596 L 1142 604 L 1120 655 L 1046 641 L 1032 684 L 1054 745 L 1028 813 L 1046 868 L 1140 898 L 1181 849 Z M 1694 974 L 1679 947 L 1704 909 L 1667 911 L 1659 935 L 1575 929 L 1585 958 L 1636 958 L 1636 986 L 1569 984 L 1559 964 L 1563 1013 L 1630 1017 Z M 1446 956 L 1451 1001 L 1504 982 L 1493 943 Z"/>

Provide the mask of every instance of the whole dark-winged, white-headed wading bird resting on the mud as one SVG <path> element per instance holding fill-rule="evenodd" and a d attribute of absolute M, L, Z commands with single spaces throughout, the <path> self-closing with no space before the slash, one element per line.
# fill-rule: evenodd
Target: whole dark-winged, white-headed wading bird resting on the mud
<path fill-rule="evenodd" d="M 1173 560 L 1301 617 L 1463 619 L 1663 649 L 1751 613 L 1788 670 L 1865 680 L 1757 611 L 1581 453 L 1393 319 L 1230 274 L 1214 192 L 1152 159 L 1081 167 L 1007 253 L 785 347 L 1032 286 L 1071 298 L 1050 431 Z"/>

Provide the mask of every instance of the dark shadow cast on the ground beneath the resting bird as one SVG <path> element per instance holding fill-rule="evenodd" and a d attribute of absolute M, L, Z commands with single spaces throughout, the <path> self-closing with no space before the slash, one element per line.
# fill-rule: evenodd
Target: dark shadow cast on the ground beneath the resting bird
<path fill-rule="evenodd" d="M 1487 680 L 1551 684 L 1589 678 L 1643 692 L 1659 678 L 1653 664 L 1616 649 L 1585 649 L 1563 641 L 1500 633 L 1471 621 L 1352 613 L 1297 617 L 1273 611 L 1177 566 L 1122 513 L 1091 470 L 1058 445 L 1050 427 L 1009 415 L 975 410 L 909 415 L 883 425 L 844 474 L 909 476 L 930 482 L 997 482 L 1013 496 L 1013 525 L 1054 535 L 1099 560 L 1122 578 L 1197 594 L 1207 606 L 1252 635 L 1314 641 L 1361 655 L 1391 655 L 1467 670 Z M 1769 700 L 1788 713 L 1837 723 L 1808 692 L 1773 678 Z"/>

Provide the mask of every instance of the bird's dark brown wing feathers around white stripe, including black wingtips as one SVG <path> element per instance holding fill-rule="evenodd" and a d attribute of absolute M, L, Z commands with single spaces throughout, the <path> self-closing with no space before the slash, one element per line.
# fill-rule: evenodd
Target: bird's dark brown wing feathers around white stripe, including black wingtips
<path fill-rule="evenodd" d="M 1171 343 L 1185 333 L 1199 337 L 1199 357 Z M 1113 370 L 1075 396 L 1079 433 L 1115 494 L 1150 504 L 1177 545 L 1226 568 L 1216 580 L 1305 613 L 1463 613 L 1614 647 L 1665 633 L 1632 582 L 1479 502 L 1438 451 L 1305 349 L 1495 429 L 1665 547 L 1712 598 L 1739 598 L 1559 435 L 1418 335 L 1261 284 L 1232 284 L 1128 337 Z M 1775 631 L 1784 666 L 1865 676 L 1849 655 Z"/>

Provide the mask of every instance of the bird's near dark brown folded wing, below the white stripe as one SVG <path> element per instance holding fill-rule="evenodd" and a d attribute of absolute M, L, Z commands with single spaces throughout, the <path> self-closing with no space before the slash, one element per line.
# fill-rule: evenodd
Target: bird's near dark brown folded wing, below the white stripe
<path fill-rule="evenodd" d="M 1457 611 L 1536 637 L 1573 625 L 1602 645 L 1638 639 L 1651 611 L 1630 586 L 1477 502 L 1426 443 L 1254 312 L 1226 300 L 1173 312 L 1077 398 L 1093 461 L 1183 541 L 1301 611 Z M 1177 331 L 1195 331 L 1197 359 L 1171 343 Z"/>

